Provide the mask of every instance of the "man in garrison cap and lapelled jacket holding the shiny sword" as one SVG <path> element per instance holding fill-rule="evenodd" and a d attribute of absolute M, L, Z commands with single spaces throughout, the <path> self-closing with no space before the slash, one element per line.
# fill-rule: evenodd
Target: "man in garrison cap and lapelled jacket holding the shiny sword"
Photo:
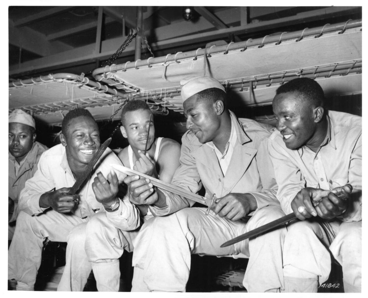
<path fill-rule="evenodd" d="M 225 241 L 284 216 L 267 153 L 271 128 L 238 119 L 226 107 L 224 87 L 213 78 L 183 79 L 181 97 L 188 131 L 171 183 L 193 193 L 203 185 L 206 198 L 215 194 L 218 203 L 206 216 L 206 207 L 192 207 L 192 201 L 153 187 L 137 175 L 124 179 L 131 201 L 150 204 L 156 215 L 135 240 L 132 291 L 185 291 L 192 253 L 243 253 L 249 257 L 245 288 L 280 291 L 284 228 L 220 248 Z M 248 223 L 242 220 L 247 214 L 252 215 Z"/>

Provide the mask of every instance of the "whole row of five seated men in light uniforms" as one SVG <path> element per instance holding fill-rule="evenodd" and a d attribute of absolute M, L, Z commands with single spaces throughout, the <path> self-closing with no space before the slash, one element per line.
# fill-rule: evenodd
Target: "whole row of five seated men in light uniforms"
<path fill-rule="evenodd" d="M 277 89 L 277 130 L 237 118 L 213 78 L 182 79 L 181 98 L 188 129 L 181 146 L 156 138 L 147 104 L 130 101 L 121 114 L 129 146 L 118 156 L 107 148 L 78 194 L 68 191 L 100 147 L 92 115 L 71 110 L 61 144 L 46 150 L 35 142 L 33 118 L 10 114 L 8 280 L 17 290 L 34 289 L 49 240 L 67 242 L 61 291 L 82 291 L 91 270 L 99 291 L 118 291 L 126 250 L 134 251 L 132 291 L 183 292 L 191 254 L 243 253 L 248 292 L 316 292 L 329 277 L 331 254 L 344 291 L 360 292 L 361 117 L 327 111 L 321 86 L 308 78 Z M 204 187 L 216 204 L 206 214 L 207 207 L 113 164 L 192 193 Z M 298 220 L 220 247 L 289 213 Z"/>

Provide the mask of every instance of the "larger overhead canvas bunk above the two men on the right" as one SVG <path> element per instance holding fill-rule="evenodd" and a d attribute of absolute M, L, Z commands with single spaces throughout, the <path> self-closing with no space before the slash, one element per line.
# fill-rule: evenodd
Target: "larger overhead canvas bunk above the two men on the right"
<path fill-rule="evenodd" d="M 281 32 L 263 38 L 178 52 L 93 71 L 96 81 L 183 113 L 180 79 L 210 75 L 244 106 L 271 104 L 280 84 L 297 77 L 315 78 L 326 96 L 361 93 L 362 21 L 348 20 Z"/>

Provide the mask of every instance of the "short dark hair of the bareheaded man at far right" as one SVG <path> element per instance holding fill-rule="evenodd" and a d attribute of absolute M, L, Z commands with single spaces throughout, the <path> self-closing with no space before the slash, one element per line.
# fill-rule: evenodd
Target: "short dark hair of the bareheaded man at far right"
<path fill-rule="evenodd" d="M 322 87 L 314 79 L 292 79 L 277 88 L 276 95 L 287 92 L 298 92 L 304 99 L 308 100 L 315 107 L 324 106 L 325 94 L 323 93 Z"/>

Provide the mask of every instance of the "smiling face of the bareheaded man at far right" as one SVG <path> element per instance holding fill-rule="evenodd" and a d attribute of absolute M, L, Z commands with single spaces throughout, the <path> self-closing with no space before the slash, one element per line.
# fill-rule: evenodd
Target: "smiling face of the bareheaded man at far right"
<path fill-rule="evenodd" d="M 322 129 L 322 107 L 314 107 L 299 92 L 280 93 L 272 103 L 277 118 L 277 130 L 283 135 L 287 148 L 302 146 L 316 151 L 326 136 Z"/>

